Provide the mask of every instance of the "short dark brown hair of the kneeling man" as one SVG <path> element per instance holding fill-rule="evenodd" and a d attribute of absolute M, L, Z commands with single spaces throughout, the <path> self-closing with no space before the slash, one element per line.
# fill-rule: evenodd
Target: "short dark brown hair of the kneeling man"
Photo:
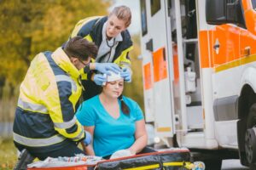
<path fill-rule="evenodd" d="M 66 42 L 64 51 L 69 57 L 86 60 L 88 57 L 95 59 L 98 53 L 98 48 L 94 42 L 88 42 L 83 37 L 77 36 L 70 38 Z"/>

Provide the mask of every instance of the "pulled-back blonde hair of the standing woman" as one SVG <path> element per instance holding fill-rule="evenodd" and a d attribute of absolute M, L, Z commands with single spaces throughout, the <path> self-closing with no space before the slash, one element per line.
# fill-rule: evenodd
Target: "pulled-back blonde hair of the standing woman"
<path fill-rule="evenodd" d="M 127 28 L 131 24 L 131 9 L 125 5 L 113 8 L 108 17 L 115 15 L 119 20 L 125 21 L 125 27 Z"/>

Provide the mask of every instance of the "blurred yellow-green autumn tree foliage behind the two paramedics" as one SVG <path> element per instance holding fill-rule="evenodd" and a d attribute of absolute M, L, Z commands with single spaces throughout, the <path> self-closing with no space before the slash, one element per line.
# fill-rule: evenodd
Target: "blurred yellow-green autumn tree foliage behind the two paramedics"
<path fill-rule="evenodd" d="M 101 0 L 0 1 L 0 82 L 22 81 L 31 59 L 67 41 L 73 26 L 92 15 L 108 14 Z"/>

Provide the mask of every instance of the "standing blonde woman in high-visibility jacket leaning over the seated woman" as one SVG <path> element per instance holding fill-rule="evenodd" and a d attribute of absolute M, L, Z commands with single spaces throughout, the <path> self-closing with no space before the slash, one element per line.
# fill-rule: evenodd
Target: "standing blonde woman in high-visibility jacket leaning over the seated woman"
<path fill-rule="evenodd" d="M 71 37 L 81 36 L 99 47 L 96 59 L 92 62 L 115 63 L 122 67 L 121 76 L 131 82 L 131 60 L 129 52 L 133 48 L 127 27 L 131 24 L 131 10 L 126 6 L 113 8 L 108 16 L 89 17 L 80 20 L 74 27 Z M 100 86 L 106 78 L 96 71 L 90 71 L 82 77 L 84 99 L 100 94 Z"/>

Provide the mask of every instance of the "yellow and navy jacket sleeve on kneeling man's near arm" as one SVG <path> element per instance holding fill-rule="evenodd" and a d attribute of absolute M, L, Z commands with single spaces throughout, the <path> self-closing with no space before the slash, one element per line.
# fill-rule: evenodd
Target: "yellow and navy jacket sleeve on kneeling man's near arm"
<path fill-rule="evenodd" d="M 67 139 L 79 141 L 84 139 L 84 128 L 74 115 L 77 101 L 72 101 L 79 98 L 73 96 L 74 84 L 67 80 L 68 76 L 61 75 L 56 82 L 51 81 L 44 100 L 55 130 Z"/>

